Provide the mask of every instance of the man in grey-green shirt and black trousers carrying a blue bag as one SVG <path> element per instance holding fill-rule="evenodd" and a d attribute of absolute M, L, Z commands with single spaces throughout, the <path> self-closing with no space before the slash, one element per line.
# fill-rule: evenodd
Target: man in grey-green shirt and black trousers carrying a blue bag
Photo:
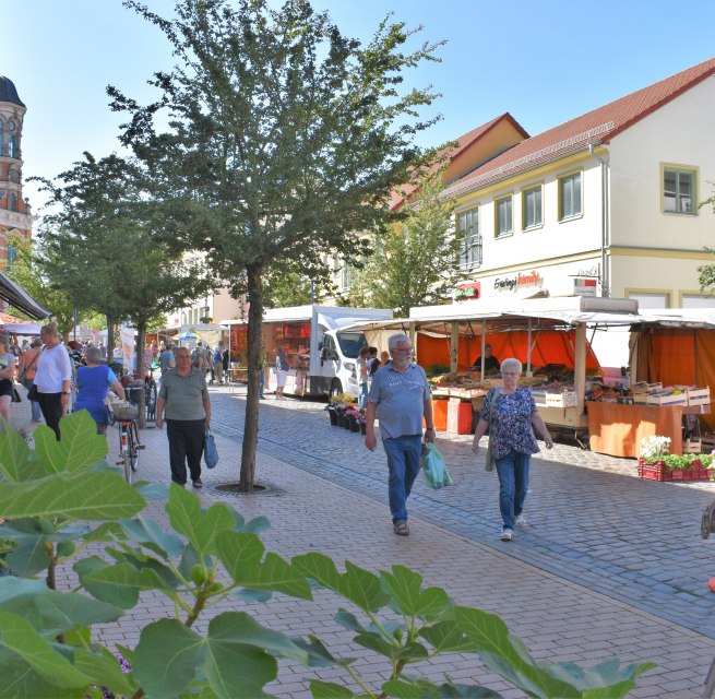
<path fill-rule="evenodd" d="M 162 376 L 156 399 L 156 426 L 164 427 L 169 439 L 171 481 L 184 486 L 187 464 L 194 488 L 200 488 L 201 455 L 203 454 L 206 427 L 211 424 L 211 399 L 205 374 L 191 366 L 191 355 L 186 347 L 175 352 L 176 369 Z M 165 411 L 166 408 L 166 411 Z"/>

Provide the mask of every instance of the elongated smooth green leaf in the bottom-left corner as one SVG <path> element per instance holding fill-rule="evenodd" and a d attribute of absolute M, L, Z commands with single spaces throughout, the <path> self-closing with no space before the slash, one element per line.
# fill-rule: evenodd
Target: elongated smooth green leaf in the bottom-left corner
<path fill-rule="evenodd" d="M 83 687 L 90 677 L 58 653 L 25 619 L 0 611 L 0 640 L 57 687 Z"/>

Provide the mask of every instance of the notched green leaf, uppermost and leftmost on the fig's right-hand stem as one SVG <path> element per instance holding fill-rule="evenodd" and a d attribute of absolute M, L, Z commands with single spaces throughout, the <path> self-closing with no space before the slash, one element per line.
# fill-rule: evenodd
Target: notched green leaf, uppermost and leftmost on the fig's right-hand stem
<path fill-rule="evenodd" d="M 295 556 L 293 564 L 320 585 L 342 594 L 364 612 L 377 612 L 390 600 L 374 573 L 358 568 L 349 560 L 345 561 L 344 574 L 337 571 L 332 558 L 318 552 Z"/>

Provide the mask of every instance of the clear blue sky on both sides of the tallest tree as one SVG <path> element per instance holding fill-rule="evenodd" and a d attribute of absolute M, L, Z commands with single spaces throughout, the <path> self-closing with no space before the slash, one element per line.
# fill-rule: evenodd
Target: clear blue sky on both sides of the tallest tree
<path fill-rule="evenodd" d="M 167 16 L 171 0 L 144 0 Z M 277 0 L 275 2 L 277 4 Z M 417 40 L 448 39 L 441 63 L 406 75 L 442 93 L 443 119 L 421 137 L 436 145 L 504 111 L 532 134 L 715 56 L 712 0 L 313 0 L 344 34 L 367 39 L 389 11 Z M 114 84 L 140 102 L 172 58 L 160 32 L 121 0 L 0 0 L 0 74 L 27 106 L 23 177 L 53 177 L 119 151 Z M 41 198 L 27 183 L 37 208 Z"/>

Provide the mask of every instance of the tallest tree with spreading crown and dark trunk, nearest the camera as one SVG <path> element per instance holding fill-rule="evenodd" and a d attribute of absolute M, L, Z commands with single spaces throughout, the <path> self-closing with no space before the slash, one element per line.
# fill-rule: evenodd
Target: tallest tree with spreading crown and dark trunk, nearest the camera
<path fill-rule="evenodd" d="M 171 21 L 124 4 L 163 29 L 177 64 L 155 74 L 155 104 L 109 88 L 131 116 L 122 141 L 154 176 L 165 238 L 204 250 L 250 303 L 240 488 L 251 490 L 265 273 L 293 261 L 323 280 L 325 256 L 355 261 L 361 232 L 389 220 L 384 203 L 431 123 L 420 109 L 436 97 L 404 86 L 404 73 L 436 60 L 436 46 L 406 50 L 414 33 L 389 17 L 361 45 L 307 0 L 181 0 Z"/>

